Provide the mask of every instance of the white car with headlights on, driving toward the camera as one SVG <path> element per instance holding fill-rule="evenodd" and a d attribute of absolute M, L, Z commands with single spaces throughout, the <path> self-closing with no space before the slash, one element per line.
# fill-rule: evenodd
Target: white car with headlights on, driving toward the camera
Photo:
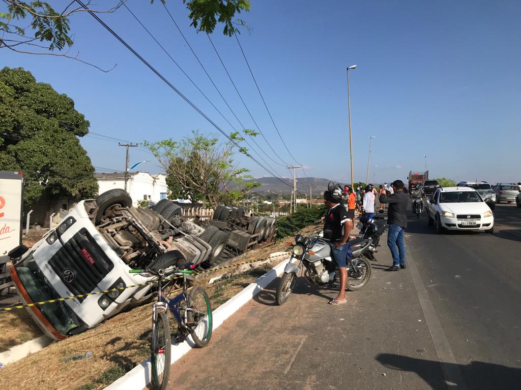
<path fill-rule="evenodd" d="M 479 193 L 469 187 L 439 188 L 427 203 L 430 226 L 436 231 L 484 230 L 494 232 L 494 215 Z"/>

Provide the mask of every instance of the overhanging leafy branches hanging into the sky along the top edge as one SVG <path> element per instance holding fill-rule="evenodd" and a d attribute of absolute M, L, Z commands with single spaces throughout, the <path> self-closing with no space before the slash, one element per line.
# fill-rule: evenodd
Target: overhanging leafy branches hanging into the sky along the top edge
<path fill-rule="evenodd" d="M 97 14 L 111 13 L 119 9 L 124 2 L 125 0 L 121 0 L 110 9 L 89 10 Z M 166 4 L 166 0 L 160 2 Z M 94 66 L 77 56 L 67 54 L 68 48 L 73 44 L 69 17 L 74 14 L 86 14 L 79 3 L 67 2 L 68 5 L 58 11 L 49 2 L 39 0 L 4 0 L 4 3 L 7 5 L 7 12 L 0 12 L 0 48 L 24 54 L 67 57 Z M 89 7 L 91 2 L 84 3 Z M 151 0 L 151 3 L 154 3 L 154 0 Z M 247 0 L 183 0 L 183 4 L 189 10 L 191 25 L 195 29 L 210 34 L 215 30 L 217 23 L 221 23 L 224 25 L 222 32 L 229 36 L 238 32 L 238 25 L 244 25 L 241 19 L 234 19 L 235 16 L 241 11 L 249 11 L 251 7 Z M 26 19 L 29 19 L 29 23 Z M 65 52 L 61 52 L 64 49 Z"/>

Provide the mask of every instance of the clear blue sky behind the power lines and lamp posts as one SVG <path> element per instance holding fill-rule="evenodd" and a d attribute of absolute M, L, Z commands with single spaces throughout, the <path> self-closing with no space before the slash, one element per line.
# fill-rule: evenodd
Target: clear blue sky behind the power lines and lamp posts
<path fill-rule="evenodd" d="M 116 2 L 112 2 L 116 3 Z M 129 0 L 142 22 L 234 125 L 224 102 L 185 46 L 160 2 Z M 246 127 L 254 128 L 205 34 L 189 27 L 181 0 L 171 12 Z M 327 6 L 326 6 L 327 4 Z M 185 79 L 124 8 L 103 20 L 225 131 L 229 125 Z M 369 136 L 376 181 L 404 179 L 424 167 L 431 177 L 520 181 L 521 2 L 252 0 L 241 14 L 253 29 L 240 39 L 268 107 L 308 176 L 347 181 L 349 133 L 346 75 L 350 71 L 355 180 L 365 180 Z M 102 73 L 63 58 L 0 51 L 2 66 L 21 66 L 76 102 L 91 131 L 141 142 L 215 129 L 86 14 L 71 21 L 71 53 Z M 287 155 L 245 66 L 237 42 L 213 39 L 272 147 Z M 232 121 L 233 119 L 233 121 Z M 259 145 L 272 155 L 261 137 Z M 122 170 L 124 148 L 84 137 L 93 165 Z M 273 156 L 274 157 L 274 156 Z M 131 149 L 131 163 L 151 158 Z M 276 157 L 274 157 L 276 159 Z M 269 160 L 268 160 L 269 161 Z M 254 176 L 269 176 L 245 157 Z M 156 162 L 141 170 L 158 172 Z M 271 164 L 282 176 L 288 171 Z M 300 174 L 302 176 L 302 173 Z"/>

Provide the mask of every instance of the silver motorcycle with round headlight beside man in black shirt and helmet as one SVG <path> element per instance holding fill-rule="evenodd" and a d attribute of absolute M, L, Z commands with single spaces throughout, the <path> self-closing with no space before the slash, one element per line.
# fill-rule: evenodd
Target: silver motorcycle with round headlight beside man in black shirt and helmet
<path fill-rule="evenodd" d="M 291 218 L 288 218 L 291 223 Z M 284 274 L 277 287 L 275 300 L 278 305 L 287 301 L 293 291 L 297 274 L 302 269 L 307 281 L 325 287 L 337 279 L 337 267 L 333 264 L 333 243 L 317 235 L 315 237 L 304 237 L 299 231 L 295 236 L 295 244 L 288 264 L 284 267 Z M 288 243 L 291 244 L 291 243 Z M 348 259 L 348 281 L 346 290 L 361 290 L 371 278 L 371 263 L 363 256 L 373 244 L 371 238 L 354 238 L 349 240 L 353 252 L 352 259 Z M 295 264 L 296 262 L 300 262 Z"/>

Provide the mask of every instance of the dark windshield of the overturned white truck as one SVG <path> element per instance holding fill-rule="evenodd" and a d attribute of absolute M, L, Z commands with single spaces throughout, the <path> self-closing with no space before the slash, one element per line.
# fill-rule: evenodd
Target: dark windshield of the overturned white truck
<path fill-rule="evenodd" d="M 45 278 L 32 255 L 27 256 L 15 268 L 23 288 L 26 289 L 33 302 L 48 301 L 60 297 Z M 49 323 L 61 334 L 66 335 L 72 329 L 83 325 L 83 322 L 63 301 L 39 305 L 38 308 Z"/>

